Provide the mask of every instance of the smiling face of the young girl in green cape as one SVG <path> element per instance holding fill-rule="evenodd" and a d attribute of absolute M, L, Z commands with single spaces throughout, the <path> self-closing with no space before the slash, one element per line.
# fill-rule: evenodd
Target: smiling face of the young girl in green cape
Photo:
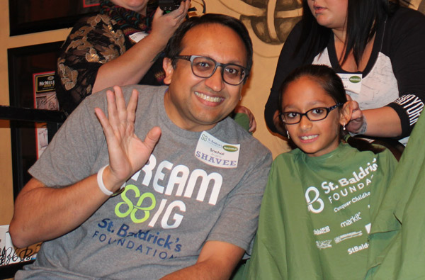
<path fill-rule="evenodd" d="M 312 108 L 336 104 L 317 79 L 310 76 L 302 76 L 290 82 L 283 92 L 282 100 L 283 112 L 305 113 Z M 297 147 L 310 157 L 319 157 L 338 147 L 340 125 L 346 122 L 342 111 L 344 109 L 336 108 L 321 121 L 310 121 L 307 116 L 301 116 L 300 123 L 285 124 L 285 128 Z"/>

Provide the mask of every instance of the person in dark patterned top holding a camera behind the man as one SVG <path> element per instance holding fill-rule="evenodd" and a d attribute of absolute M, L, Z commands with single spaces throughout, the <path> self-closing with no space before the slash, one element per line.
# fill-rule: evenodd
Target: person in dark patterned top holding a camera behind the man
<path fill-rule="evenodd" d="M 162 57 L 191 0 L 164 13 L 148 0 L 101 0 L 96 16 L 81 18 L 57 60 L 57 99 L 71 113 L 90 94 L 109 86 L 163 84 Z"/>

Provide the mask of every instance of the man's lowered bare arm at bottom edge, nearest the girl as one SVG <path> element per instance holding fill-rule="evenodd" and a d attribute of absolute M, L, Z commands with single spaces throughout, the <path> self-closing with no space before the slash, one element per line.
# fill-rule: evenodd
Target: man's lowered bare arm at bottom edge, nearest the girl
<path fill-rule="evenodd" d="M 171 279 L 229 279 L 245 250 L 222 241 L 207 241 L 200 251 L 198 261 L 162 278 Z"/>

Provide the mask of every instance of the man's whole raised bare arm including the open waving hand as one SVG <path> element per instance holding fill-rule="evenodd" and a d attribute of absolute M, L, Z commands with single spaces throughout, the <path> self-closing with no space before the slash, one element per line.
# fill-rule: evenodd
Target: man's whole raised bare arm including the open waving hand
<path fill-rule="evenodd" d="M 109 165 L 103 172 L 103 183 L 115 192 L 141 169 L 159 140 L 161 130 L 152 128 L 145 141 L 134 133 L 137 91 L 125 105 L 118 86 L 115 94 L 107 91 L 108 118 L 96 108 L 108 144 Z M 84 152 L 84 151 L 82 151 Z M 50 240 L 77 228 L 109 198 L 98 188 L 96 174 L 71 186 L 49 188 L 31 179 L 16 198 L 15 212 L 9 228 L 13 244 L 25 247 Z"/>

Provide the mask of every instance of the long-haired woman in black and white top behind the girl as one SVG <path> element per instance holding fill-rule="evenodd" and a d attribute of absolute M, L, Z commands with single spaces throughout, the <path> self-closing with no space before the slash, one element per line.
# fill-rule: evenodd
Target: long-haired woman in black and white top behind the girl
<path fill-rule="evenodd" d="M 398 0 L 303 0 L 303 16 L 288 36 L 266 103 L 268 128 L 285 135 L 278 96 L 300 65 L 324 64 L 356 101 L 346 129 L 401 139 L 404 145 L 424 107 L 425 16 Z"/>

